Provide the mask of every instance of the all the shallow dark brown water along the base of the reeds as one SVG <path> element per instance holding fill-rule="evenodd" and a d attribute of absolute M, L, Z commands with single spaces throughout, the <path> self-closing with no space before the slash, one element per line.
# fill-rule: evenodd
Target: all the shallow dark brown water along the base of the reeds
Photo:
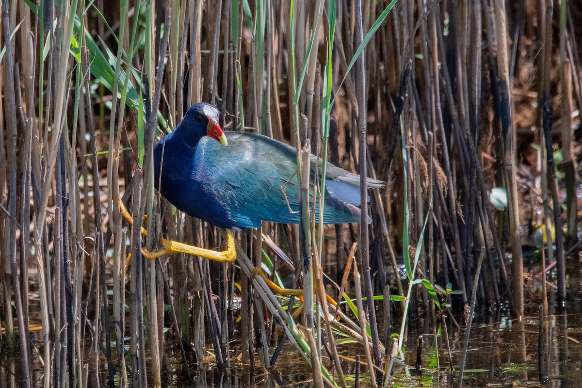
<path fill-rule="evenodd" d="M 572 280 L 572 278 L 570 279 Z M 531 283 L 530 283 L 531 284 Z M 570 283 L 572 285 L 572 283 Z M 536 300 L 540 297 L 535 286 L 530 287 L 530 295 L 526 298 Z M 572 287 L 580 290 L 580 287 Z M 551 294 L 552 297 L 553 294 Z M 538 304 L 527 307 L 526 319 L 513 321 L 508 316 L 477 312 L 471 328 L 469 351 L 467 353 L 464 386 L 467 387 L 582 387 L 582 294 L 579 291 L 569 294 L 565 311 L 555 311 L 550 298 L 550 316 L 546 318 L 548 334 L 548 380 L 540 383 L 538 371 L 538 340 L 540 323 Z M 401 314 L 401 313 L 398 313 Z M 462 317 L 457 317 L 460 319 Z M 456 387 L 459 362 L 463 350 L 464 330 L 457 330 L 447 319 L 447 329 L 450 353 L 446 346 L 446 337 L 442 326 L 437 330 L 435 342 L 431 323 L 423 319 L 410 321 L 409 339 L 406 343 L 406 365 L 414 365 L 416 361 L 417 337 L 423 336 L 422 365 L 420 371 L 411 366 L 395 364 L 393 368 L 393 387 Z M 439 321 L 441 322 L 441 321 Z M 395 329 L 395 331 L 398 328 Z M 33 333 L 37 336 L 38 333 Z M 235 338 L 237 333 L 235 333 Z M 39 341 L 39 343 L 41 343 Z M 205 364 L 201 369 L 191 368 L 192 380 L 188 380 L 183 371 L 182 358 L 178 349 L 173 347 L 171 339 L 165 344 L 165 364 L 162 365 L 162 387 L 275 387 L 311 386 L 311 373 L 303 358 L 297 355 L 292 346 L 287 344 L 271 372 L 265 372 L 260 366 L 255 352 L 255 365 L 239 361 L 239 343 L 230 344 L 230 365 L 218 368 L 212 363 L 212 355 L 207 354 Z M 437 351 L 438 348 L 438 351 Z M 211 344 L 207 350 L 212 351 Z M 342 345 L 338 347 L 340 357 L 365 360 L 363 349 L 357 345 Z M 112 350 L 115 354 L 115 349 Z M 271 354 L 273 348 L 270 349 Z M 325 354 L 325 351 L 322 352 Z M 450 354 L 450 361 L 449 361 Z M 42 349 L 33 351 L 34 387 L 44 386 L 42 366 L 40 364 Z M 0 353 L 0 388 L 22 386 L 20 378 L 20 354 L 17 350 L 7 350 L 3 347 Z M 100 357 L 95 358 L 95 344 L 88 341 L 85 349 L 87 387 L 107 386 L 107 365 Z M 128 365 L 130 360 L 126 359 Z M 147 358 L 147 363 L 150 359 Z M 452 362 L 454 373 L 450 372 Z M 354 385 L 356 373 L 353 361 L 343 359 L 343 372 L 348 379 L 347 385 Z M 331 368 L 331 365 L 328 364 Z M 130 369 L 128 367 L 128 369 Z M 117 376 L 119 378 L 119 376 Z M 129 375 L 131 383 L 132 376 Z M 151 382 L 151 376 L 148 376 Z M 369 375 L 365 366 L 360 371 L 361 386 L 369 385 Z M 117 382 L 118 383 L 118 382 Z M 116 384 L 117 386 L 118 384 Z"/>

